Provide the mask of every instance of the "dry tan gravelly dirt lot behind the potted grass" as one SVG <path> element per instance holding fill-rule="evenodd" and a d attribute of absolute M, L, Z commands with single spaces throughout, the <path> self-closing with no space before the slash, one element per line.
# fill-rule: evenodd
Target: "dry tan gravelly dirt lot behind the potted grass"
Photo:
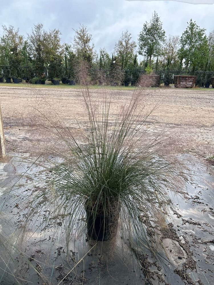
<path fill-rule="evenodd" d="M 133 91 L 105 90 L 112 100 L 112 116 Z M 144 89 L 142 105 L 152 110 L 147 119 L 151 131 L 166 131 L 185 152 L 205 157 L 214 152 L 214 89 Z M 95 99 L 103 90 L 93 89 Z M 0 102 L 7 153 L 37 153 L 53 142 L 53 125 L 77 131 L 85 113 L 80 89 L 0 87 Z M 45 118 L 46 117 L 46 118 Z M 51 123 L 50 123 L 51 121 Z M 54 122 L 54 123 L 53 123 Z M 51 126 L 51 124 L 53 124 Z"/>

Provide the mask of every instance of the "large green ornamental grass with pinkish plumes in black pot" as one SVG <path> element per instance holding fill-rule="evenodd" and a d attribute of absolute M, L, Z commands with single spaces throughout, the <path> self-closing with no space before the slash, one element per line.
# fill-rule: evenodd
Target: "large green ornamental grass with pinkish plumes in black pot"
<path fill-rule="evenodd" d="M 103 241 L 120 232 L 148 247 L 142 216 L 153 220 L 164 216 L 168 192 L 180 185 L 182 171 L 176 156 L 169 155 L 169 138 L 148 131 L 150 113 L 144 115 L 142 88 L 124 106 L 113 95 L 104 91 L 95 101 L 87 86 L 82 90 L 87 116 L 83 126 L 76 119 L 81 137 L 69 128 L 67 136 L 50 128 L 67 150 L 56 152 L 60 162 L 43 163 L 44 189 L 33 197 L 28 217 L 48 208 L 43 223 L 61 218 L 67 245 L 83 233 Z"/>

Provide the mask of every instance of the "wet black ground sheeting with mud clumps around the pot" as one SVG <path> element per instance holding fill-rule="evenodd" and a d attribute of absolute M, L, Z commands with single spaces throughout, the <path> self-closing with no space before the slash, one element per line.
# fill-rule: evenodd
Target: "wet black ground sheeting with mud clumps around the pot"
<path fill-rule="evenodd" d="M 59 230 L 46 222 L 48 205 L 26 226 L 28 201 L 42 191 L 36 175 L 41 168 L 19 158 L 1 163 L 0 283 L 214 284 L 213 166 L 190 155 L 185 159 L 194 160 L 189 166 L 192 175 L 179 194 L 169 193 L 175 207 L 170 206 L 167 225 L 157 231 L 156 258 L 150 251 L 140 250 L 137 241 L 130 246 L 119 233 L 114 244 L 96 244 L 84 232 L 75 236 L 75 228 L 67 249 L 63 223 Z M 152 238 L 152 224 L 146 219 L 144 223 Z"/>

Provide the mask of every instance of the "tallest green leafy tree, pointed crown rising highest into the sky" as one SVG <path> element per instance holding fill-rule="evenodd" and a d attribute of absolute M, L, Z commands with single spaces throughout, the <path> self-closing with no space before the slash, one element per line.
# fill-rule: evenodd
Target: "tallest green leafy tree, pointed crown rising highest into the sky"
<path fill-rule="evenodd" d="M 160 53 L 160 44 L 165 39 L 165 31 L 162 28 L 162 22 L 156 11 L 149 23 L 145 23 L 138 36 L 139 54 L 149 58 L 151 67 L 152 56 L 158 56 Z"/>

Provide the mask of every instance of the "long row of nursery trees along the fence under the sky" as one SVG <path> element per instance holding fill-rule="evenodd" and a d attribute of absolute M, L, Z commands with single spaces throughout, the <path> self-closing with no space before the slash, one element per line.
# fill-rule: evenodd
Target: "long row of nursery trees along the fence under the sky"
<path fill-rule="evenodd" d="M 138 54 L 144 60 L 139 62 Z M 128 30 L 123 31 L 110 55 L 105 48 L 100 48 L 99 54 L 96 52 L 92 35 L 84 25 L 75 30 L 73 44 L 62 44 L 60 30 L 46 31 L 42 24 L 35 25 L 26 37 L 19 28 L 3 26 L 0 65 L 8 66 L 2 69 L 5 77 L 42 79 L 47 76 L 47 69 L 49 78 L 75 78 L 82 62 L 86 62 L 89 70 L 108 70 L 114 75 L 123 70 L 124 82 L 129 80 L 128 70 L 138 72 L 147 66 L 156 71 L 210 71 L 214 70 L 214 31 L 207 36 L 206 30 L 191 19 L 181 37 L 166 38 L 162 22 L 154 12 L 150 22 L 144 23 L 138 44 Z M 29 69 L 23 71 L 22 66 Z M 29 70 L 31 74 L 23 74 Z M 134 74 L 137 73 L 131 74 L 133 81 Z"/>

